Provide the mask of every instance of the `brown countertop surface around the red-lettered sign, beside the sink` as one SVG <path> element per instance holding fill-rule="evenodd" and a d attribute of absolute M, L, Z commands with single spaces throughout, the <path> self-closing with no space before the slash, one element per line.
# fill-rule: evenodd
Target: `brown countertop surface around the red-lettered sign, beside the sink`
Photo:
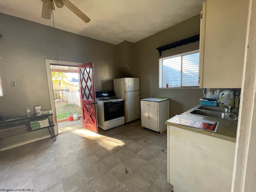
<path fill-rule="evenodd" d="M 222 119 L 216 119 L 216 118 L 208 118 L 208 117 L 203 117 L 203 116 L 198 116 L 198 115 L 186 114 L 186 112 L 180 114 L 179 116 L 183 116 L 184 118 L 186 118 L 186 117 L 194 118 L 195 120 L 201 119 L 201 120 L 219 122 L 218 128 L 217 128 L 216 132 L 211 132 L 208 130 L 201 130 L 201 129 L 197 129 L 197 128 L 193 128 L 193 127 L 189 127 L 189 126 L 176 124 L 176 123 L 170 122 L 169 121 L 170 119 L 167 120 L 165 122 L 165 124 L 170 125 L 170 126 L 175 126 L 178 128 L 182 128 L 182 129 L 186 129 L 186 130 L 190 130 L 192 132 L 224 139 L 224 140 L 231 141 L 234 143 L 236 142 L 237 121 L 228 121 L 228 120 L 222 120 Z"/>

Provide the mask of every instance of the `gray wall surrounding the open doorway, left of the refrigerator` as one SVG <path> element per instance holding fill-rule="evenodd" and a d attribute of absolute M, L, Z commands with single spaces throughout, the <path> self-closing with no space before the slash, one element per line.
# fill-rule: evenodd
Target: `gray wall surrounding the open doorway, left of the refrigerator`
<path fill-rule="evenodd" d="M 45 59 L 94 62 L 96 91 L 113 90 L 113 79 L 122 74 L 116 64 L 116 45 L 55 30 L 52 27 L 0 13 L 0 76 L 4 96 L 0 97 L 0 116 L 24 116 L 26 107 L 50 108 Z M 10 82 L 16 81 L 16 87 Z M 0 148 L 48 135 L 38 130 L 0 139 Z"/>

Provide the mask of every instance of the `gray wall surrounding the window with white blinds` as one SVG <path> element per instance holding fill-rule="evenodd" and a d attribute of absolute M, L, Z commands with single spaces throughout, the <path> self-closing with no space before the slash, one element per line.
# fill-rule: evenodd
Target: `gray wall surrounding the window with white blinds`
<path fill-rule="evenodd" d="M 200 104 L 202 89 L 159 89 L 159 53 L 157 47 L 200 33 L 200 15 L 176 24 L 135 43 L 135 76 L 140 78 L 140 98 L 170 98 L 170 117 Z M 161 57 L 199 49 L 199 41 L 162 52 Z"/>

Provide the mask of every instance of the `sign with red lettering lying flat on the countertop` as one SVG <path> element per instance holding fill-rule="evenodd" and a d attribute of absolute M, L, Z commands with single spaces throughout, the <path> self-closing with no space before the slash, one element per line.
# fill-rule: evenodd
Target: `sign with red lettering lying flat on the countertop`
<path fill-rule="evenodd" d="M 219 122 L 176 115 L 168 120 L 175 124 L 216 132 Z"/>

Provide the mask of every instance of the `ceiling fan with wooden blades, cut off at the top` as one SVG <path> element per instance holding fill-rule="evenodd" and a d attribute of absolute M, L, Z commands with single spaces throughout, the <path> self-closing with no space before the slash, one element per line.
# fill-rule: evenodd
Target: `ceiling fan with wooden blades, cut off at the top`
<path fill-rule="evenodd" d="M 80 11 L 69 0 L 41 0 L 43 2 L 42 18 L 51 19 L 52 10 L 55 10 L 54 3 L 58 8 L 62 8 L 64 5 L 69 8 L 74 14 L 81 18 L 84 22 L 88 23 L 90 18 Z M 53 3 L 54 1 L 54 3 Z"/>

